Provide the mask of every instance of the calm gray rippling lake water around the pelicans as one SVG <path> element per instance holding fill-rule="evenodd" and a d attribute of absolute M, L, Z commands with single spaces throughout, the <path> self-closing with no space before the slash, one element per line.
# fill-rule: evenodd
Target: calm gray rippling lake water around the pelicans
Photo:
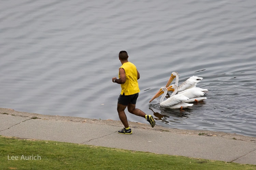
<path fill-rule="evenodd" d="M 137 107 L 157 125 L 256 137 L 255 28 L 255 0 L 1 1 L 0 107 L 119 120 L 111 79 L 126 50 L 141 75 Z M 173 71 L 202 77 L 207 100 L 150 104 Z"/>

